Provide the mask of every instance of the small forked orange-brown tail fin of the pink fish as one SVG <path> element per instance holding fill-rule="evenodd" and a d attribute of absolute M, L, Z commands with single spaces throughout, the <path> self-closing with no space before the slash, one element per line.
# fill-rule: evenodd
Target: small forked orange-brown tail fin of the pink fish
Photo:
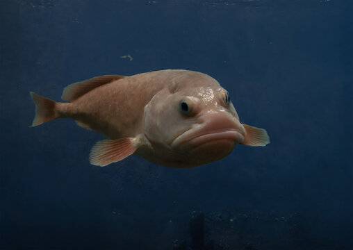
<path fill-rule="evenodd" d="M 56 113 L 55 101 L 41 97 L 35 92 L 30 92 L 30 94 L 35 103 L 35 117 L 31 126 L 38 126 L 59 117 L 58 113 Z"/>

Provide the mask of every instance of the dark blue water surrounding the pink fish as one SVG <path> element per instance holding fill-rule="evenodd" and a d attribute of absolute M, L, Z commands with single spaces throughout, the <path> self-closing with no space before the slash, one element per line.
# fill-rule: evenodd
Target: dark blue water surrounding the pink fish
<path fill-rule="evenodd" d="M 0 2 L 1 249 L 352 249 L 352 1 Z M 120 58 L 130 54 L 133 60 Z M 193 169 L 95 167 L 101 135 L 28 128 L 102 74 L 217 79 L 266 147 Z M 178 240 L 178 241 L 176 241 Z"/>

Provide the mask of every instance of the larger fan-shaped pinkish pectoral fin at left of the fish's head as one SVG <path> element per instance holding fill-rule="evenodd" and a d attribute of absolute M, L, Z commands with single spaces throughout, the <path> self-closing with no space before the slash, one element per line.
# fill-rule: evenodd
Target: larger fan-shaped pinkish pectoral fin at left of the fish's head
<path fill-rule="evenodd" d="M 104 167 L 116 163 L 136 151 L 134 138 L 121 138 L 117 140 L 101 140 L 92 147 L 90 163 Z"/>

